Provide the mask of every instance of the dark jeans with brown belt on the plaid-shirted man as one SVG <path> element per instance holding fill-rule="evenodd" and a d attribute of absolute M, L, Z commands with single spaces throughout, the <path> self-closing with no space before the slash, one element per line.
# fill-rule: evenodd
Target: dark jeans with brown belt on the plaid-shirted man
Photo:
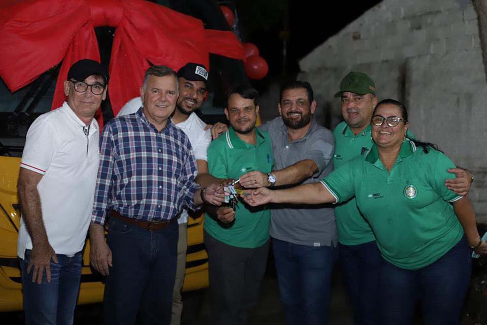
<path fill-rule="evenodd" d="M 107 243 L 113 267 L 105 284 L 105 324 L 169 324 L 176 275 L 178 222 L 148 231 L 110 219 Z"/>

